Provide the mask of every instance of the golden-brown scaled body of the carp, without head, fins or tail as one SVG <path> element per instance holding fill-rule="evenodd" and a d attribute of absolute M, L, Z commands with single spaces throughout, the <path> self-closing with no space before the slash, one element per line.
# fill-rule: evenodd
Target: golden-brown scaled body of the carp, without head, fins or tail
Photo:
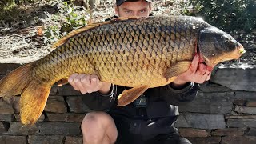
<path fill-rule="evenodd" d="M 163 86 L 166 70 L 191 61 L 205 22 L 190 17 L 130 19 L 86 30 L 35 63 L 34 76 L 54 84 L 74 72 L 121 86 Z"/>

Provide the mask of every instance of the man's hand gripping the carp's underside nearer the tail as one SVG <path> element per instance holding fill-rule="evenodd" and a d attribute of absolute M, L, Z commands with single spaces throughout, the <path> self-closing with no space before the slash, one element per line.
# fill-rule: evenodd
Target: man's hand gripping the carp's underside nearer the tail
<path fill-rule="evenodd" d="M 109 94 L 111 83 L 101 82 L 95 74 L 71 74 L 68 81 L 74 90 L 82 94 L 98 91 L 101 94 Z"/>

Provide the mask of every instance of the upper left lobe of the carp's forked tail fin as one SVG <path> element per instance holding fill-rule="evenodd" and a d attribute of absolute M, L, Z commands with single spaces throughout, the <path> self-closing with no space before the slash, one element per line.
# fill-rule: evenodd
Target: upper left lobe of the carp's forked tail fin
<path fill-rule="evenodd" d="M 0 80 L 0 97 L 22 94 L 31 81 L 32 64 L 18 67 Z"/>

